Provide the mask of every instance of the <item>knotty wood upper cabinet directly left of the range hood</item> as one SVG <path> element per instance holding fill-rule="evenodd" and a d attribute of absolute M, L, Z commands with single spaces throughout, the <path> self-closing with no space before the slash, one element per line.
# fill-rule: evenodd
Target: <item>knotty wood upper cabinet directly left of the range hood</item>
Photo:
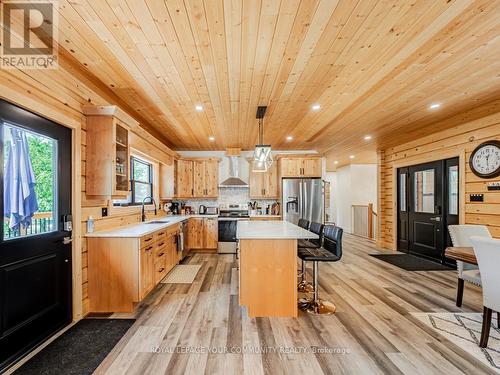
<path fill-rule="evenodd" d="M 218 184 L 219 159 L 176 160 L 176 198 L 217 198 Z"/>

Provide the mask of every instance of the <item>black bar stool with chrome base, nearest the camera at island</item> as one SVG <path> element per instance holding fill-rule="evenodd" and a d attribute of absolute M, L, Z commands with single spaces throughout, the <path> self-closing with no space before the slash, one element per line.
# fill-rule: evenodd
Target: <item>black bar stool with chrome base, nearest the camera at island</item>
<path fill-rule="evenodd" d="M 309 313 L 333 314 L 337 309 L 330 301 L 319 298 L 319 262 L 338 262 L 342 258 L 343 229 L 334 225 L 326 225 L 323 230 L 323 244 L 320 248 L 299 248 L 299 258 L 313 262 L 314 296 L 311 299 L 299 300 L 299 307 Z"/>

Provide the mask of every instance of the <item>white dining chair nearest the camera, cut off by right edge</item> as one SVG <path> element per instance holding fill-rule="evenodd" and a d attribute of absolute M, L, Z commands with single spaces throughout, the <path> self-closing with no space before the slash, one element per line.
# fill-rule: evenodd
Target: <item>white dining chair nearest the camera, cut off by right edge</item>
<path fill-rule="evenodd" d="M 500 240 L 473 236 L 471 239 L 483 283 L 483 327 L 479 346 L 486 348 L 490 336 L 491 313 L 500 317 Z M 499 322 L 497 322 L 498 324 Z"/>

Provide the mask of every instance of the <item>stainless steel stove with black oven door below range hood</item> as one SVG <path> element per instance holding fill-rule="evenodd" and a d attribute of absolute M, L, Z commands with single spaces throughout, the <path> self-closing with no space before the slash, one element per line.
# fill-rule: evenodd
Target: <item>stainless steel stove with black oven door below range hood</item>
<path fill-rule="evenodd" d="M 219 254 L 236 254 L 236 228 L 238 221 L 250 220 L 248 204 L 224 203 L 219 205 Z"/>

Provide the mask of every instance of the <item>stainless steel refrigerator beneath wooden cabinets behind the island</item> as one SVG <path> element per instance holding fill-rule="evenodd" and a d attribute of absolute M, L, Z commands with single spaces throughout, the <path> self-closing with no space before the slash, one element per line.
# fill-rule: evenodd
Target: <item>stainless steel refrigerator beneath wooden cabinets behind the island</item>
<path fill-rule="evenodd" d="M 325 199 L 321 178 L 284 178 L 281 191 L 284 220 L 293 224 L 299 219 L 324 223 Z"/>

